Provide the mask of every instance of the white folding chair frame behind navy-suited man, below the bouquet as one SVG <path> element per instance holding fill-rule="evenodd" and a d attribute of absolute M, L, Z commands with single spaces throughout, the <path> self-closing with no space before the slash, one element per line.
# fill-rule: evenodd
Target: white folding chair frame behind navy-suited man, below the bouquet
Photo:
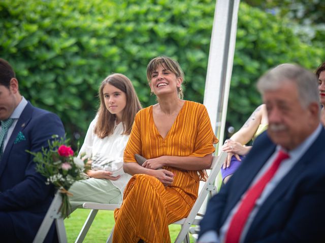
<path fill-rule="evenodd" d="M 59 212 L 59 209 L 62 204 L 62 197 L 59 191 L 55 193 L 55 196 L 53 198 L 53 201 L 50 205 L 50 208 L 48 209 L 43 222 L 37 231 L 37 234 L 34 238 L 33 243 L 42 243 L 44 242 L 44 239 L 53 223 L 55 221 L 56 225 L 56 232 L 59 239 L 59 243 L 66 243 L 67 242 L 67 234 L 66 234 L 66 228 L 64 227 L 63 218 L 61 217 L 61 213 Z"/>

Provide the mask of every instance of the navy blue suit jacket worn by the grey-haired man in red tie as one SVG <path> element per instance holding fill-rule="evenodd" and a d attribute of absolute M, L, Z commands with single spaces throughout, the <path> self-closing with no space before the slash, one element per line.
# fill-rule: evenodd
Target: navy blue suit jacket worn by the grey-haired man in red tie
<path fill-rule="evenodd" d="M 245 242 L 325 242 L 325 131 L 261 206 Z M 216 230 L 275 151 L 264 132 L 229 182 L 209 201 L 200 235 Z"/>

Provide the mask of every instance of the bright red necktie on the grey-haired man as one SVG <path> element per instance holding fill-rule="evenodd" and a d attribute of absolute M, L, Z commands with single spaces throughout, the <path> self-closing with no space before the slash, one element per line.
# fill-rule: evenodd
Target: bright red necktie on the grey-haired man
<path fill-rule="evenodd" d="M 226 233 L 225 243 L 238 243 L 249 214 L 254 208 L 255 201 L 261 196 L 266 184 L 272 179 L 275 172 L 278 170 L 283 159 L 289 158 L 289 155 L 282 150 L 276 159 L 273 161 L 271 167 L 259 178 L 259 180 L 248 189 L 244 196 L 237 212 L 234 214 L 230 222 L 228 232 Z"/>

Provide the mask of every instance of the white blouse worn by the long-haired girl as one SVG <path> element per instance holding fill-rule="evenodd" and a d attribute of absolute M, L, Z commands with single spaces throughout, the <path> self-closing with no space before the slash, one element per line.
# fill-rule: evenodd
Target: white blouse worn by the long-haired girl
<path fill-rule="evenodd" d="M 123 171 L 123 153 L 129 135 L 123 135 L 123 124 L 115 124 L 114 132 L 105 138 L 99 138 L 93 131 L 98 120 L 98 115 L 91 121 L 84 143 L 79 151 L 81 154 L 86 153 L 87 156 L 93 159 L 92 170 L 105 170 L 113 173 L 112 176 L 121 177 L 112 181 L 123 194 L 123 190 L 131 178 L 131 175 Z"/>

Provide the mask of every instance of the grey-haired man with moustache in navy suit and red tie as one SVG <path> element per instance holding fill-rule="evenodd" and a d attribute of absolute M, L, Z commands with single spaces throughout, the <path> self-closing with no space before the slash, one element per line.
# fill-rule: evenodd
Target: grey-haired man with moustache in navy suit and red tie
<path fill-rule="evenodd" d="M 199 242 L 325 242 L 325 131 L 317 79 L 282 64 L 257 87 L 268 131 L 209 201 Z"/>

